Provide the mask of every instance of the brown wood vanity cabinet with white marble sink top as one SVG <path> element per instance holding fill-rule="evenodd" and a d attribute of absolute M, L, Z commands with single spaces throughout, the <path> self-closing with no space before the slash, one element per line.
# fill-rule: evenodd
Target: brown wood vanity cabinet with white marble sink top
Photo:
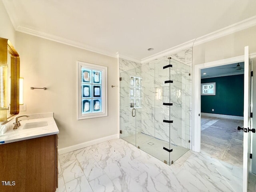
<path fill-rule="evenodd" d="M 0 136 L 1 192 L 55 192 L 58 188 L 59 130 L 53 114 L 28 116 L 20 118 L 17 129 L 9 122 Z"/>

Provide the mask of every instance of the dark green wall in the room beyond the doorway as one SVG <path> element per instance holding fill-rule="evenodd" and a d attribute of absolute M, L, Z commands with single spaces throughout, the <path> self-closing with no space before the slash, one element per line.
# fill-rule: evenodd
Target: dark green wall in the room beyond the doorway
<path fill-rule="evenodd" d="M 210 82 L 216 82 L 216 95 L 201 96 L 201 112 L 244 116 L 244 74 L 201 79 Z"/>

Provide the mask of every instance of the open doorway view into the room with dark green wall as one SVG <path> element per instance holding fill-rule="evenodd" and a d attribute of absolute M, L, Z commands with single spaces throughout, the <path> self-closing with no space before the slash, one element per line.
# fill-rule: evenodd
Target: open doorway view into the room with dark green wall
<path fill-rule="evenodd" d="M 243 166 L 244 62 L 200 70 L 201 152 Z"/>

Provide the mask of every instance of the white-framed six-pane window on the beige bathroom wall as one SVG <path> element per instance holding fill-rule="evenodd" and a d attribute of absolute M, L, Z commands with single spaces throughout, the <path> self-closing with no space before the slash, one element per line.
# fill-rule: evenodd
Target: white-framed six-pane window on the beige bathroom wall
<path fill-rule="evenodd" d="M 77 62 L 78 120 L 108 116 L 107 75 L 106 66 Z"/>

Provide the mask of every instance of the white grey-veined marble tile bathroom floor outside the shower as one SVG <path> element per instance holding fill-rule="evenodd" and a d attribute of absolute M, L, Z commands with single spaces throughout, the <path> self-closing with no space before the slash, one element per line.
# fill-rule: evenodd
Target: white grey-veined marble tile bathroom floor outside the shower
<path fill-rule="evenodd" d="M 242 168 L 191 150 L 167 165 L 115 139 L 58 156 L 57 192 L 241 192 Z M 251 188 L 256 190 L 252 179 Z"/>

